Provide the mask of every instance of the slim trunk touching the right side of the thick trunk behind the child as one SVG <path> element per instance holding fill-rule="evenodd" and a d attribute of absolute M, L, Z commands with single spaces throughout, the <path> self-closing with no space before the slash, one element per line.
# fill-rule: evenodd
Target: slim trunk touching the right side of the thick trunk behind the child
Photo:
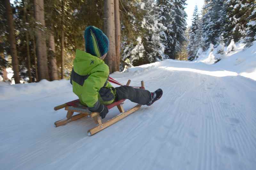
<path fill-rule="evenodd" d="M 121 46 L 121 25 L 119 13 L 119 0 L 115 0 L 115 25 L 116 25 L 116 71 L 119 71 L 120 66 L 120 46 Z"/>

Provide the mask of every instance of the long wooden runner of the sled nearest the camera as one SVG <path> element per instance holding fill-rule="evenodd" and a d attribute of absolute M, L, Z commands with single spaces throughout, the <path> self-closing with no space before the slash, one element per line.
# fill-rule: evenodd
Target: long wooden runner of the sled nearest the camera
<path fill-rule="evenodd" d="M 105 123 L 102 123 L 101 125 L 96 126 L 95 128 L 92 128 L 90 130 L 87 131 L 87 134 L 89 136 L 94 135 L 95 133 L 107 128 L 108 126 L 111 126 L 112 124 L 122 120 L 123 118 L 131 115 L 133 112 L 135 112 L 136 110 L 138 110 L 141 107 L 140 104 L 136 105 L 135 107 L 133 107 L 132 109 L 128 110 L 127 112 L 121 113 L 119 115 L 117 115 L 116 117 L 108 120 Z"/>

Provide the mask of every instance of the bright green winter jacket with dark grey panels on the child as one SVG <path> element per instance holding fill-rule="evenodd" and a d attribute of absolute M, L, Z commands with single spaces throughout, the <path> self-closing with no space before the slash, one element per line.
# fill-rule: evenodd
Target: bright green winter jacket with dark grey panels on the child
<path fill-rule="evenodd" d="M 80 102 L 93 110 L 114 102 L 116 90 L 108 82 L 109 68 L 100 58 L 76 50 L 70 83 Z"/>

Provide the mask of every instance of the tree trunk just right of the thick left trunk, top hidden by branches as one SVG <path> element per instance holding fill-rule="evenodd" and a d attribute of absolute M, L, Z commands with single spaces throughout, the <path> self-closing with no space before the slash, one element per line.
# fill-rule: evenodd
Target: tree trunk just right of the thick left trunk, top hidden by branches
<path fill-rule="evenodd" d="M 57 70 L 57 62 L 56 62 L 56 56 L 55 56 L 55 42 L 54 42 L 54 36 L 53 33 L 50 33 L 50 38 L 49 38 L 49 46 L 50 46 L 50 51 L 51 55 L 49 57 L 50 60 L 50 80 L 58 80 L 58 70 Z"/>

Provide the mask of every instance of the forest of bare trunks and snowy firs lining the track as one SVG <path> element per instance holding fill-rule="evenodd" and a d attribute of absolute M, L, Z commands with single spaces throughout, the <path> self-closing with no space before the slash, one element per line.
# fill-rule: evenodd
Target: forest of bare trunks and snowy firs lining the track
<path fill-rule="evenodd" d="M 15 84 L 69 78 L 84 30 L 108 36 L 110 73 L 164 59 L 195 61 L 210 46 L 256 33 L 255 0 L 204 0 L 187 26 L 186 0 L 2 0 L 0 74 L 12 68 Z M 221 52 L 221 51 L 220 51 Z"/>

